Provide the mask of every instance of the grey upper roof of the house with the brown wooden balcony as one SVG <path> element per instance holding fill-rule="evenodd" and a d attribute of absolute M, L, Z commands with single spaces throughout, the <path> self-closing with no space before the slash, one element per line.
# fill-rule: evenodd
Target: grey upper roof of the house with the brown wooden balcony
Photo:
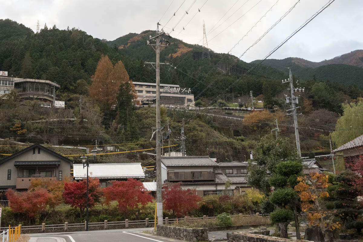
<path fill-rule="evenodd" d="M 161 162 L 166 167 L 214 167 L 218 164 L 209 156 L 164 156 Z"/>

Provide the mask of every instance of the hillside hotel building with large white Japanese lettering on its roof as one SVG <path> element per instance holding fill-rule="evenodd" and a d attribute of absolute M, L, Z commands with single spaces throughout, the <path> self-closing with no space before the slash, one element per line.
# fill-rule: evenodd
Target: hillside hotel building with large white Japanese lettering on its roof
<path fill-rule="evenodd" d="M 137 101 L 145 105 L 155 103 L 156 84 L 148 82 L 132 82 L 135 85 Z M 164 106 L 186 107 L 194 106 L 194 95 L 190 88 L 179 85 L 160 84 L 160 99 Z"/>

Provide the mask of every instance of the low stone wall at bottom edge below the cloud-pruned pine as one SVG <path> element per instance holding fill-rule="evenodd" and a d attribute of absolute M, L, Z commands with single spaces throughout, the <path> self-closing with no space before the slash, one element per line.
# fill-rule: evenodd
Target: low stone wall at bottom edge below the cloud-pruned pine
<path fill-rule="evenodd" d="M 228 242 L 293 242 L 295 239 L 284 239 L 279 237 L 273 237 L 262 234 L 250 234 L 245 232 L 231 232 L 227 233 Z M 312 242 L 308 240 L 302 240 L 301 242 Z"/>

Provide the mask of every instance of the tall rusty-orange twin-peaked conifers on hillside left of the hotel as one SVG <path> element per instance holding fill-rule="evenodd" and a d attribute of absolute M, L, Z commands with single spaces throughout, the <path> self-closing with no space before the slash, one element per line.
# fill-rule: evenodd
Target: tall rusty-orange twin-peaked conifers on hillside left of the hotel
<path fill-rule="evenodd" d="M 106 109 L 117 103 L 117 92 L 121 83 L 130 82 L 122 61 L 113 66 L 109 57 L 103 55 L 91 79 L 90 97 Z"/>

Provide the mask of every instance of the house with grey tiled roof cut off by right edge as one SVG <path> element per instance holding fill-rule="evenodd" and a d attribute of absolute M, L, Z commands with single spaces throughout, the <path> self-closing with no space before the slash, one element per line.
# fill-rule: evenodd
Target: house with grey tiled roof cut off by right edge
<path fill-rule="evenodd" d="M 349 141 L 346 144 L 334 149 L 333 153 L 343 152 L 344 164 L 349 168 L 363 155 L 363 135 Z"/>

